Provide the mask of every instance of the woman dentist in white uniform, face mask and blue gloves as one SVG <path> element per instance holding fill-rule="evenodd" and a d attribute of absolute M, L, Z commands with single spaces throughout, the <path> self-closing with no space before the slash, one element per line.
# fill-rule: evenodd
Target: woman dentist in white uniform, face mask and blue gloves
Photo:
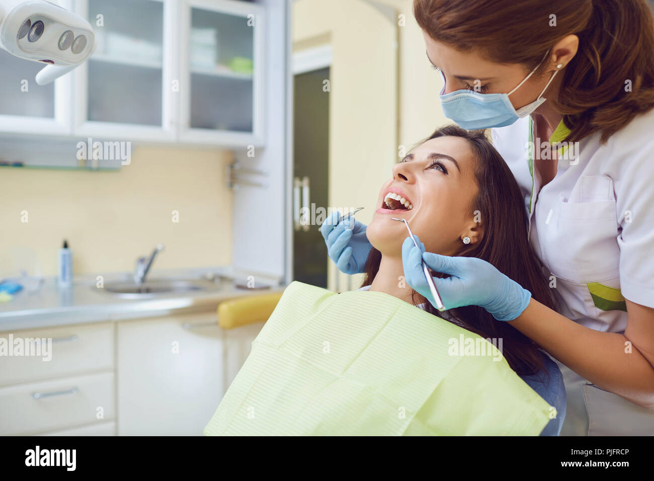
<path fill-rule="evenodd" d="M 407 283 L 434 304 L 422 258 L 449 275 L 434 277 L 446 308 L 482 306 L 555 357 L 568 399 L 561 435 L 654 435 L 650 8 L 645 0 L 495 0 L 492 8 L 414 0 L 413 13 L 443 76 L 443 113 L 462 128 L 492 128 L 521 185 L 529 238 L 561 308 L 546 308 L 481 259 L 427 253 L 409 238 Z M 339 270 L 364 270 L 364 224 L 338 224 L 326 244 Z"/>

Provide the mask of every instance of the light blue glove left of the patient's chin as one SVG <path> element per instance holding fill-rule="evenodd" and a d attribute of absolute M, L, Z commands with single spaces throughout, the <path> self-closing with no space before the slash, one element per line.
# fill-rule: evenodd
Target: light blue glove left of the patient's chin
<path fill-rule="evenodd" d="M 327 244 L 327 253 L 337 268 L 345 274 L 364 272 L 372 245 L 366 237 L 366 225 L 350 216 L 339 222 L 341 213 L 332 215 L 320 226 L 320 233 Z"/>

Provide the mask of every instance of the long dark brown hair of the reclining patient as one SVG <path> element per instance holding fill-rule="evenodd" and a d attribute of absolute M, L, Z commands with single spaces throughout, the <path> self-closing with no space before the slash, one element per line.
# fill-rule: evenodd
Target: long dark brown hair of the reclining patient
<path fill-rule="evenodd" d="M 500 272 L 530 291 L 532 297 L 545 306 L 556 309 L 557 302 L 549 288 L 540 260 L 528 241 L 528 217 L 525 200 L 513 173 L 499 152 L 486 138 L 483 130 L 463 130 L 451 125 L 440 128 L 428 139 L 462 137 L 468 140 L 476 162 L 475 180 L 479 193 L 473 199 L 473 211 L 481 213 L 483 236 L 476 243 L 465 245 L 457 256 L 477 257 L 490 262 Z M 423 141 L 423 142 L 424 142 Z M 379 270 L 381 253 L 374 247 L 366 261 L 361 287 L 370 285 Z M 447 277 L 438 273 L 434 276 Z M 413 304 L 426 302 L 426 311 L 442 317 L 417 291 L 411 293 Z M 449 310 L 448 319 L 484 338 L 502 338 L 502 354 L 509 366 L 520 375 L 545 370 L 540 346 L 506 322 L 497 321 L 479 306 L 464 306 Z"/>

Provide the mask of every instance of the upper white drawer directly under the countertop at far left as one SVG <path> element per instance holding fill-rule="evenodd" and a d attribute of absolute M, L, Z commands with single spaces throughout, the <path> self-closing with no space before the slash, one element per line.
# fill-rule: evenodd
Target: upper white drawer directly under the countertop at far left
<path fill-rule="evenodd" d="M 37 346 L 28 339 L 46 341 Z M 51 344 L 48 339 L 52 339 Z M 114 367 L 114 327 L 111 322 L 0 332 L 0 343 L 12 353 L 0 355 L 0 386 L 112 370 Z M 31 355 L 25 355 L 27 349 L 23 355 L 16 355 L 18 344 L 35 348 Z M 46 360 L 48 357 L 50 361 Z"/>

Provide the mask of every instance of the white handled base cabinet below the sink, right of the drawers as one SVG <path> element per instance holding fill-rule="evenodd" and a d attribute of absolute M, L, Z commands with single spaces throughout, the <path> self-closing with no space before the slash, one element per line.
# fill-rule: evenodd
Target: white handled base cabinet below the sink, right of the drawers
<path fill-rule="evenodd" d="M 215 312 L 121 321 L 118 435 L 201 435 L 262 326 L 226 334 Z"/>

